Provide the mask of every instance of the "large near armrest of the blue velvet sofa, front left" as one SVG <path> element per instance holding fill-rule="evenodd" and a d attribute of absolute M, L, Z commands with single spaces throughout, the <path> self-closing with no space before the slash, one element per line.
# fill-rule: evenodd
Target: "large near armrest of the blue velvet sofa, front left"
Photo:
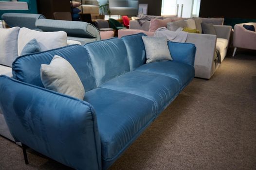
<path fill-rule="evenodd" d="M 3 75 L 0 96 L 16 141 L 74 169 L 101 170 L 97 120 L 89 103 Z"/>

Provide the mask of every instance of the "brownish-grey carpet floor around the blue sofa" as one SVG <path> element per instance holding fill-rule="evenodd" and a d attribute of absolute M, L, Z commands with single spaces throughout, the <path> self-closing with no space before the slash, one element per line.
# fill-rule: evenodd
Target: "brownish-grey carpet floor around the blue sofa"
<path fill-rule="evenodd" d="M 28 158 L 0 136 L 0 170 L 69 170 L 32 150 Z M 195 78 L 110 170 L 256 170 L 256 52 Z"/>

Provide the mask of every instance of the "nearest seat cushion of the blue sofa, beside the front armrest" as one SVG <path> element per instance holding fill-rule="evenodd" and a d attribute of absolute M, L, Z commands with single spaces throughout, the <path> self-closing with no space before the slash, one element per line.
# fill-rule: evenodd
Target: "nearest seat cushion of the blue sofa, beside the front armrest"
<path fill-rule="evenodd" d="M 125 151 L 155 118 L 154 102 L 133 94 L 97 88 L 84 100 L 95 109 L 105 168 Z M 108 165 L 107 165 L 108 164 Z"/>

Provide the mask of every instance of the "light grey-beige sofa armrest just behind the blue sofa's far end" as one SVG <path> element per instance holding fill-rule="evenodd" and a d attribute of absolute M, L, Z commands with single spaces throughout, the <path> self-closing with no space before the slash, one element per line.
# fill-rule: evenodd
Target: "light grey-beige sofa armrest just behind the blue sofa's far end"
<path fill-rule="evenodd" d="M 189 33 L 187 35 L 186 42 L 195 44 L 197 48 L 194 64 L 196 77 L 210 79 L 213 75 L 216 40 L 217 36 L 211 34 Z"/>

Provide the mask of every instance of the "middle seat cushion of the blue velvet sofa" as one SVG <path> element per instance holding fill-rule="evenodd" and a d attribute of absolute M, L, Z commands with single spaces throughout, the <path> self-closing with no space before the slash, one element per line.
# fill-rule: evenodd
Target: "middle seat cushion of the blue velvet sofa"
<path fill-rule="evenodd" d="M 165 75 L 140 71 L 123 74 L 104 83 L 101 87 L 149 99 L 155 103 L 158 114 L 180 92 L 180 84 L 176 79 Z"/>

